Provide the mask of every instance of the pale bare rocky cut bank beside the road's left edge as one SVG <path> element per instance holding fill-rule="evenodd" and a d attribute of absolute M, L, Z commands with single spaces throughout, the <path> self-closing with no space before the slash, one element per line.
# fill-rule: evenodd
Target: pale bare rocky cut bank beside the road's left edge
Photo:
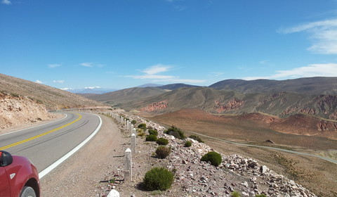
<path fill-rule="evenodd" d="M 43 103 L 15 94 L 0 93 L 0 129 L 16 127 L 30 122 L 50 120 Z"/>

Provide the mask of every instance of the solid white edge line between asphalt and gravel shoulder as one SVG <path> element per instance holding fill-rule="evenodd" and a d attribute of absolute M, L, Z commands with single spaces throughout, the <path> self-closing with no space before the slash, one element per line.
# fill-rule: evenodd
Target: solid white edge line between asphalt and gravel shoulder
<path fill-rule="evenodd" d="M 52 165 L 49 165 L 46 169 L 42 170 L 42 172 L 39 173 L 39 178 L 40 179 L 42 177 L 44 177 L 46 174 L 48 174 L 49 172 L 51 172 L 51 170 L 53 170 L 55 167 L 58 167 L 58 165 L 60 165 L 65 160 L 67 160 L 67 158 L 69 158 L 71 155 L 73 155 L 74 153 L 76 153 L 77 151 L 79 151 L 79 148 L 81 148 L 82 146 L 84 146 L 84 144 L 86 144 L 91 138 L 93 138 L 93 136 L 95 136 L 95 134 L 100 130 L 100 127 L 102 126 L 102 119 L 100 118 L 100 116 L 98 116 L 98 115 L 95 115 L 95 116 L 97 116 L 100 119 L 100 124 L 95 129 L 95 131 L 90 136 L 88 136 L 84 141 L 82 141 L 81 144 L 77 145 L 74 149 L 72 149 L 72 151 L 70 151 L 69 153 L 67 153 L 64 156 L 62 156 L 62 158 L 60 158 L 59 160 L 55 161 L 55 163 L 53 163 Z"/>

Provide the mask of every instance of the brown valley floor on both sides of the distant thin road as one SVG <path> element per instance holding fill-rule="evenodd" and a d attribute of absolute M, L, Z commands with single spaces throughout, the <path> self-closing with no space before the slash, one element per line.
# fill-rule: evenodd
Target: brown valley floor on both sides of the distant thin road
<path fill-rule="evenodd" d="M 277 142 L 277 146 L 284 146 L 285 148 L 291 149 L 302 148 L 310 153 L 331 155 L 331 158 L 336 157 L 336 141 L 322 138 L 315 139 L 315 137 L 312 136 L 277 134 L 274 131 L 259 128 L 258 125 L 250 125 L 251 127 L 249 127 L 249 125 L 244 125 L 244 122 L 242 122 L 242 125 L 234 127 L 235 125 L 231 122 L 223 122 L 220 124 L 218 120 L 206 121 L 198 120 L 197 118 L 184 118 L 182 116 L 163 115 L 147 118 L 162 125 L 175 125 L 187 133 L 188 131 L 197 132 L 199 134 L 250 144 L 256 142 L 258 142 L 258 144 L 265 144 L 265 140 L 272 139 Z M 264 163 L 275 172 L 294 179 L 299 184 L 314 192 L 317 196 L 337 196 L 336 164 L 310 156 L 293 155 L 280 151 L 270 151 L 264 148 L 237 146 L 224 141 L 205 139 L 204 136 L 201 136 L 201 138 L 206 141 L 206 144 L 222 153 L 237 153 L 245 157 L 256 158 L 259 163 Z M 298 146 L 294 146 L 295 144 Z M 272 146 L 272 144 L 265 145 Z M 329 149 L 329 147 L 331 147 L 332 150 Z"/>

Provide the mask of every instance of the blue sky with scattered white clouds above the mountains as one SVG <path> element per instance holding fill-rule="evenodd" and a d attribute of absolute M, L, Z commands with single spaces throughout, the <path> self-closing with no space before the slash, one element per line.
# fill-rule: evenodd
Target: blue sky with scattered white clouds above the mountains
<path fill-rule="evenodd" d="M 336 0 L 0 1 L 0 72 L 51 87 L 337 77 Z"/>

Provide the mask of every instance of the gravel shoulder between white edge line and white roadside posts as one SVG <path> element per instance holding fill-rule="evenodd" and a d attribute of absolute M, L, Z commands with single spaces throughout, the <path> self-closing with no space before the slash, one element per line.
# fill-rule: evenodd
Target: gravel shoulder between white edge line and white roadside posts
<path fill-rule="evenodd" d="M 41 179 L 41 196 L 95 196 L 109 168 L 122 165 L 119 147 L 125 139 L 110 117 L 100 117 L 103 125 L 93 139 Z"/>

